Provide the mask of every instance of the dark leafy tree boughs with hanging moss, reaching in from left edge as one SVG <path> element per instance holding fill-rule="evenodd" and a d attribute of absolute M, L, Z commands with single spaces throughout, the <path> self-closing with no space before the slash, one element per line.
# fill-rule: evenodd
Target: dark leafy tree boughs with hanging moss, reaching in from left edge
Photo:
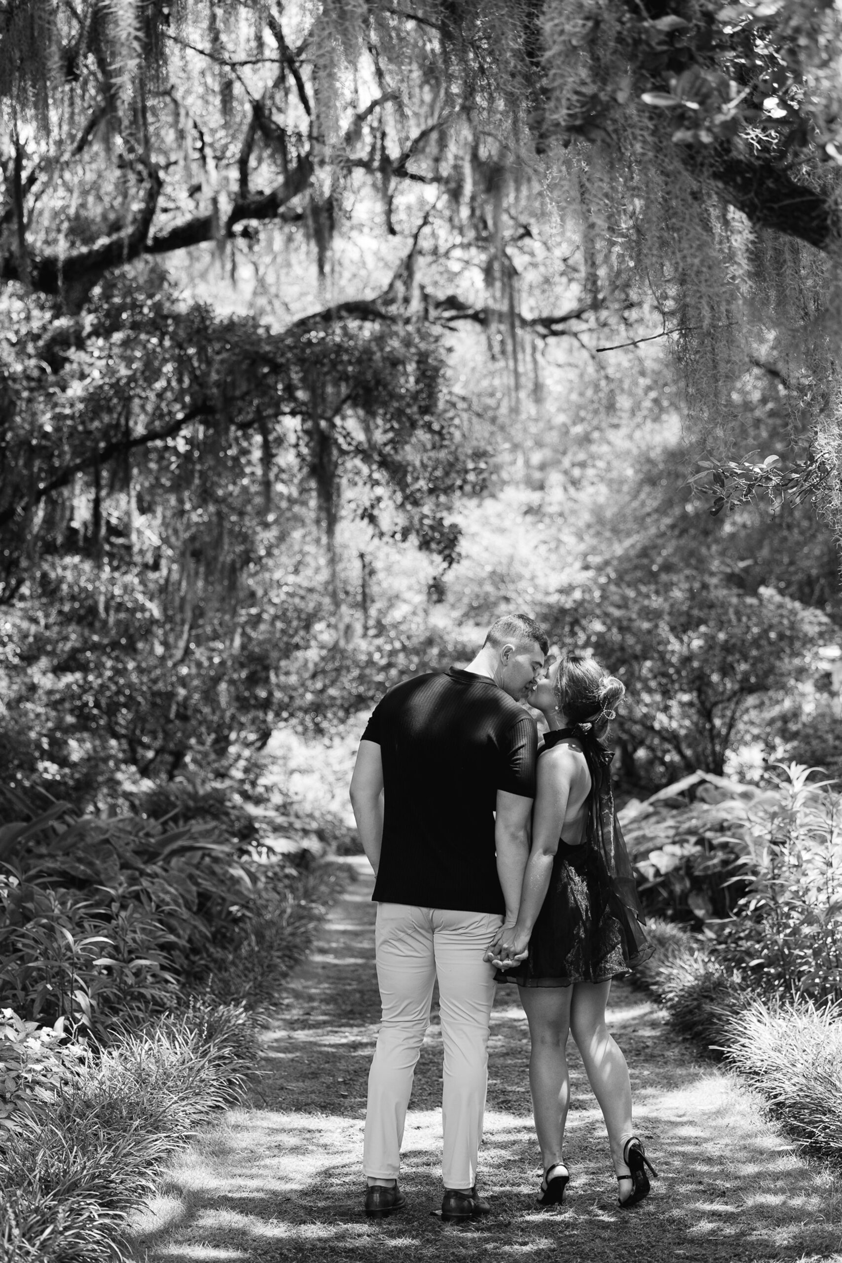
<path fill-rule="evenodd" d="M 179 587 L 189 614 L 203 596 L 211 606 L 226 590 L 241 596 L 311 488 L 329 538 L 346 482 L 376 530 L 452 560 L 443 513 L 485 474 L 429 327 L 331 317 L 273 333 L 183 307 L 154 272 L 145 284 L 104 285 L 83 318 L 54 321 L 14 301 L 10 316 L 14 341 L 0 342 L 8 595 L 34 544 L 115 571 L 139 563 L 158 582 L 126 585 L 134 640 Z M 92 621 L 92 609 L 74 608 Z"/>

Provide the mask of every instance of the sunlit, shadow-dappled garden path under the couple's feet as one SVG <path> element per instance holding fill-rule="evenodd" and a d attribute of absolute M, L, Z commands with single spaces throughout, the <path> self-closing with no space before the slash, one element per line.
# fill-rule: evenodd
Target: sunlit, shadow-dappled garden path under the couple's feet
<path fill-rule="evenodd" d="M 799 1161 L 755 1095 L 699 1062 L 656 1005 L 614 988 L 611 1026 L 631 1068 L 635 1122 L 660 1172 L 635 1211 L 615 1202 L 602 1118 L 571 1042 L 573 1104 L 562 1210 L 533 1205 L 538 1149 L 526 1082 L 525 1019 L 514 988 L 497 997 L 480 1187 L 492 1214 L 443 1225 L 441 1031 L 427 1033 L 404 1138 L 405 1212 L 382 1223 L 361 1211 L 362 1119 L 377 1029 L 374 906 L 365 861 L 333 907 L 314 951 L 288 981 L 265 1034 L 254 1105 L 188 1149 L 136 1223 L 136 1258 L 538 1263 L 842 1263 L 842 1196 L 819 1166 Z"/>

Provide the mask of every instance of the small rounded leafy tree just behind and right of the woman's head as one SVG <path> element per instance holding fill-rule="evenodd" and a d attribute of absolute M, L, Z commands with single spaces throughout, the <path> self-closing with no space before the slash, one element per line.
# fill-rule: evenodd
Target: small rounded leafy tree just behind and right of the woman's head
<path fill-rule="evenodd" d="M 644 767 L 631 770 L 650 783 L 697 768 L 721 775 L 749 701 L 804 673 L 828 635 L 818 611 L 698 572 L 646 586 L 602 573 L 562 618 L 558 639 L 591 647 L 626 685 L 617 731 L 632 757 L 641 749 Z"/>

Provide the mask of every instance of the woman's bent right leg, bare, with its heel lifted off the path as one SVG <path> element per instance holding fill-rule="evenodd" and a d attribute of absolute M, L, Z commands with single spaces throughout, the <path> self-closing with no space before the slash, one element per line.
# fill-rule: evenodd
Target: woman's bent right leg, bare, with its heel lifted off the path
<path fill-rule="evenodd" d="M 631 1122 L 629 1067 L 605 1022 L 611 983 L 574 983 L 571 1031 L 582 1056 L 588 1082 L 600 1103 L 617 1177 L 630 1177 L 622 1159 L 626 1140 L 635 1135 Z M 620 1199 L 631 1192 L 631 1181 L 620 1185 Z"/>

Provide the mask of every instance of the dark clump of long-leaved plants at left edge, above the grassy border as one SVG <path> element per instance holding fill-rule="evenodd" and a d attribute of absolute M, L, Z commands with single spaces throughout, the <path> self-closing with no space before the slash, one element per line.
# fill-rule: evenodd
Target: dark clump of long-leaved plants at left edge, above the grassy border
<path fill-rule="evenodd" d="M 74 817 L 59 803 L 6 823 L 0 845 L 0 1000 L 96 1033 L 172 1008 L 203 954 L 234 943 L 254 894 L 237 844 L 207 823 Z"/>

